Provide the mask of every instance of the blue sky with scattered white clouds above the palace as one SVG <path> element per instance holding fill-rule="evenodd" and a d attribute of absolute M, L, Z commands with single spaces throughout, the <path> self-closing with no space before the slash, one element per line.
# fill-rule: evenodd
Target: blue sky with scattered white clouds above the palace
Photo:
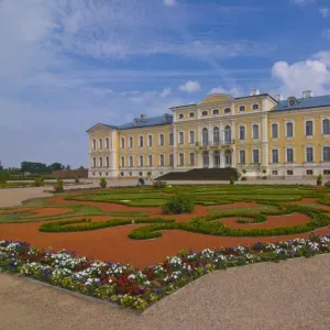
<path fill-rule="evenodd" d="M 87 166 L 86 130 L 210 92 L 330 92 L 329 0 L 2 0 L 0 160 Z"/>

